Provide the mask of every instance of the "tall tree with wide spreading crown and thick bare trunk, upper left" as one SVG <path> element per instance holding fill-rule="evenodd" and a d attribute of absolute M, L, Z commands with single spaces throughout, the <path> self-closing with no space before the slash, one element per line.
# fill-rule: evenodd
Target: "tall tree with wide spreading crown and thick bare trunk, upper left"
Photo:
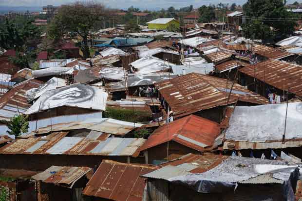
<path fill-rule="evenodd" d="M 104 13 L 104 6 L 94 2 L 62 5 L 48 26 L 48 36 L 59 40 L 64 34 L 76 33 L 76 37 L 79 36 L 82 40 L 81 50 L 84 58 L 88 58 L 88 37 L 94 29 L 94 23 L 101 20 Z"/>

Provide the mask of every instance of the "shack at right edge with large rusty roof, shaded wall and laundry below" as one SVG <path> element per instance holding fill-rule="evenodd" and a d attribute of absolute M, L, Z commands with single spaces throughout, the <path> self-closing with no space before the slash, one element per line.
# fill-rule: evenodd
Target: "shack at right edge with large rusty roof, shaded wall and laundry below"
<path fill-rule="evenodd" d="M 238 80 L 249 90 L 270 97 L 271 103 L 286 101 L 287 96 L 289 100 L 301 99 L 301 68 L 300 65 L 268 59 L 239 69 Z"/>

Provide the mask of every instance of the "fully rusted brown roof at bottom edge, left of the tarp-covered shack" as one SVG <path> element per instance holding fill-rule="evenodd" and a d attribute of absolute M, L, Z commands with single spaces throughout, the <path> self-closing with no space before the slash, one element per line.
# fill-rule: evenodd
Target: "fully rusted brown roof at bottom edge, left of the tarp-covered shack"
<path fill-rule="evenodd" d="M 87 183 L 85 201 L 142 201 L 146 186 L 140 177 L 155 166 L 104 160 Z"/>

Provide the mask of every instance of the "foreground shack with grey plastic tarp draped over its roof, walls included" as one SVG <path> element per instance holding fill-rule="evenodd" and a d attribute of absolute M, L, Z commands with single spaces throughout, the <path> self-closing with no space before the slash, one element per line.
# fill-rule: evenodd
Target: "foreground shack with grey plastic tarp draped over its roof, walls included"
<path fill-rule="evenodd" d="M 186 156 L 142 175 L 145 201 L 295 201 L 298 165 L 284 161 Z M 186 158 L 192 158 L 186 160 Z"/>

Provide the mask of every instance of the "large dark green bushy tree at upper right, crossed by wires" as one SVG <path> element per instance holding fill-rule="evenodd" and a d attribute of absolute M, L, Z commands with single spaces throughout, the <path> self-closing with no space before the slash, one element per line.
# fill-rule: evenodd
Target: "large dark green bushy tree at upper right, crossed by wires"
<path fill-rule="evenodd" d="M 283 20 L 294 18 L 293 14 L 284 7 L 283 0 L 247 0 L 243 9 L 248 19 L 243 25 L 245 37 L 266 40 L 276 35 L 286 37 L 294 31 L 296 22 Z M 249 20 L 255 16 L 257 18 Z"/>

